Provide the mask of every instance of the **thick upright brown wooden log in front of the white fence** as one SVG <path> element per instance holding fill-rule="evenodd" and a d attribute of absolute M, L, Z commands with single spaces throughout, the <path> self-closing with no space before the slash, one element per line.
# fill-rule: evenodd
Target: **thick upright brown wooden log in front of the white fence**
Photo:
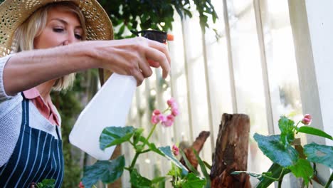
<path fill-rule="evenodd" d="M 233 171 L 247 169 L 249 132 L 248 115 L 222 115 L 210 174 L 211 187 L 251 187 L 248 174 L 231 175 Z"/>

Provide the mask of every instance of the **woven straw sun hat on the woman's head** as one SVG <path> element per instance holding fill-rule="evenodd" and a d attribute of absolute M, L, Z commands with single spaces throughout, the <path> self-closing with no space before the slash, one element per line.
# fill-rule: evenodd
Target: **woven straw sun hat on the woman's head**
<path fill-rule="evenodd" d="M 85 16 L 87 40 L 112 40 L 112 23 L 96 0 L 6 0 L 0 5 L 0 57 L 11 53 L 16 28 L 46 4 L 72 1 Z"/>

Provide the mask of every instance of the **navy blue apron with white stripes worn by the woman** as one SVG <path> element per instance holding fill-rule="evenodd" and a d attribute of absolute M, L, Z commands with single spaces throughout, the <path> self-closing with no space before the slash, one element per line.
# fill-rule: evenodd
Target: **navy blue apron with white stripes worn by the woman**
<path fill-rule="evenodd" d="M 23 94 L 22 94 L 23 95 Z M 0 187 L 31 187 L 43 179 L 63 182 L 63 144 L 53 135 L 29 126 L 29 101 L 22 101 L 22 125 L 18 141 L 9 161 L 0 167 Z"/>

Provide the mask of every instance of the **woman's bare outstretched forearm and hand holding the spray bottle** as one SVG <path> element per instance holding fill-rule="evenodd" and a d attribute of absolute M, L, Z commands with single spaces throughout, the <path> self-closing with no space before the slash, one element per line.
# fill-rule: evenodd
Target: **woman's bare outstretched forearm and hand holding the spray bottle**
<path fill-rule="evenodd" d="M 155 63 L 149 65 L 147 59 Z M 89 68 L 107 68 L 122 75 L 133 75 L 141 85 L 144 78 L 152 75 L 150 66 L 161 66 L 166 78 L 169 64 L 166 45 L 146 38 L 83 41 L 16 53 L 4 67 L 4 89 L 7 95 L 14 95 L 47 80 Z"/>

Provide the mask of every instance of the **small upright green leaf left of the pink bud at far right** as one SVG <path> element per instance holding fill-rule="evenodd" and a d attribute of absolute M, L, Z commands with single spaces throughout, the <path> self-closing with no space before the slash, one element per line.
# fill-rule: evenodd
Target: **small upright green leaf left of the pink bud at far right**
<path fill-rule="evenodd" d="M 295 122 L 285 116 L 281 116 L 279 120 L 279 128 L 281 130 L 280 140 L 283 145 L 287 146 L 292 140 L 295 139 L 294 135 Z"/>

